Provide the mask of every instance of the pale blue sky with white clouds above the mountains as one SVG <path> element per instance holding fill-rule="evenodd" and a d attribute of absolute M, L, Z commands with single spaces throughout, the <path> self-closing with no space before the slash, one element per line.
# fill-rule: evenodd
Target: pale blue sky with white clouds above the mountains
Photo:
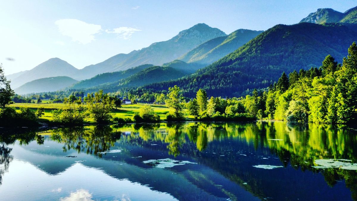
<path fill-rule="evenodd" d="M 226 34 L 296 24 L 318 8 L 345 12 L 356 0 L 0 0 L 5 74 L 50 58 L 76 68 L 100 63 L 205 23 Z"/>

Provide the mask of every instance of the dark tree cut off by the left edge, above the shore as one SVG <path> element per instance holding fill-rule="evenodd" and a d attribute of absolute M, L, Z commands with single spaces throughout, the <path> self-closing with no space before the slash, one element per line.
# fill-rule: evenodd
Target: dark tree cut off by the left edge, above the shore
<path fill-rule="evenodd" d="M 2 69 L 2 64 L 0 64 L 0 106 L 3 111 L 11 102 L 11 97 L 14 95 L 14 90 L 10 87 L 10 81 L 6 79 L 4 70 Z"/>

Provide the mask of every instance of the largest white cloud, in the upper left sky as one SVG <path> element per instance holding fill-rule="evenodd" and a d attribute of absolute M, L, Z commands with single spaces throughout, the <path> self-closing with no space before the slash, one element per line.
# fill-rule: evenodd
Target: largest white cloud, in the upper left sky
<path fill-rule="evenodd" d="M 94 41 L 94 34 L 102 30 L 101 25 L 88 24 L 76 19 L 57 20 L 55 24 L 62 35 L 69 36 L 72 41 L 78 41 L 82 44 Z"/>

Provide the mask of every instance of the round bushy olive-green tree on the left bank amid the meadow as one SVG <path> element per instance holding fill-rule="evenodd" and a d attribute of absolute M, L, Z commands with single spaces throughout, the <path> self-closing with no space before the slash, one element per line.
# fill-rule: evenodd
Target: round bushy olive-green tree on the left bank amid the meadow
<path fill-rule="evenodd" d="M 88 111 L 96 123 L 102 124 L 110 121 L 114 100 L 111 100 L 107 94 L 103 94 L 103 90 L 95 92 L 94 95 L 88 93 L 86 103 Z"/>

